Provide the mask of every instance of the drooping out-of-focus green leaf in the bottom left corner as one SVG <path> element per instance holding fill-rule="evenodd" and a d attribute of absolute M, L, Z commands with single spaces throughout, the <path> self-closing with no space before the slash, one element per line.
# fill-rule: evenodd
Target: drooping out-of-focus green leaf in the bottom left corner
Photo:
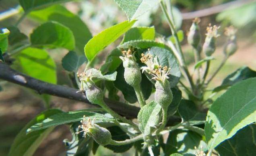
<path fill-rule="evenodd" d="M 12 143 L 8 156 L 32 156 L 35 150 L 43 141 L 43 139 L 54 129 L 54 127 L 40 130 L 37 132 L 32 132 L 30 134 L 26 134 L 27 128 L 38 122 L 41 122 L 50 115 L 61 112 L 62 111 L 59 109 L 49 109 L 37 115 L 16 136 L 14 142 Z"/>

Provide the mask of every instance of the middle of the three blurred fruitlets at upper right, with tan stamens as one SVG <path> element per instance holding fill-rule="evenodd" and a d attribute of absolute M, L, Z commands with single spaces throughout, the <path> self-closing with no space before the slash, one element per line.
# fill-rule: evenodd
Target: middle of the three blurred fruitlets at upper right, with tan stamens
<path fill-rule="evenodd" d="M 217 38 L 219 36 L 218 34 L 218 29 L 220 28 L 220 26 L 211 26 L 211 24 L 209 24 L 209 26 L 206 28 L 207 33 L 206 33 L 206 38 L 204 41 L 204 45 L 202 47 L 202 51 L 204 52 L 204 54 L 206 56 L 211 56 L 216 47 L 215 47 L 215 38 Z"/>

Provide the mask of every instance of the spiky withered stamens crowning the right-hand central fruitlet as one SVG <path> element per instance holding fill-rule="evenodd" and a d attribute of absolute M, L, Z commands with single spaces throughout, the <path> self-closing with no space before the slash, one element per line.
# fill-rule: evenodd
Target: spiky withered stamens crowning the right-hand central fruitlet
<path fill-rule="evenodd" d="M 168 75 L 170 74 L 171 68 L 168 68 L 167 66 L 164 66 L 163 68 L 159 65 L 158 69 L 155 69 L 154 71 L 151 71 L 151 75 L 154 77 L 152 79 L 155 79 L 157 81 L 165 82 L 165 79 L 169 79 Z"/>

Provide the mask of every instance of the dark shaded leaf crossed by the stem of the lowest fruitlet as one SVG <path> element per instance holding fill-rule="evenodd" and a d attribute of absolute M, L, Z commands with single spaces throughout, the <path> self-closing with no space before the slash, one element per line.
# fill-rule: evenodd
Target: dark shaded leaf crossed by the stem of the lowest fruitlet
<path fill-rule="evenodd" d="M 109 132 L 111 133 L 112 140 L 123 141 L 126 139 L 130 139 L 130 137 L 118 126 L 111 126 L 107 128 L 107 130 L 109 130 Z M 106 145 L 104 147 L 112 150 L 115 153 L 123 153 L 129 150 L 132 146 L 133 144 L 126 144 L 121 146 Z"/>

